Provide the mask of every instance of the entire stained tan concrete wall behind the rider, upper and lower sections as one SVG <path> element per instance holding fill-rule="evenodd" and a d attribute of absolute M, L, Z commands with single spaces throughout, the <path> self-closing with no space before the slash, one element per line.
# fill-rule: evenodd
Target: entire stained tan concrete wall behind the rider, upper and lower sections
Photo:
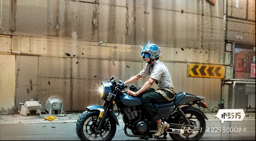
<path fill-rule="evenodd" d="M 11 1 L 3 1 L 0 30 L 6 35 L 0 38 L 0 53 L 22 52 L 12 54 L 16 55 L 16 104 L 38 98 L 44 108 L 50 96 L 62 98 L 64 110 L 100 104 L 95 87 L 112 75 L 125 81 L 142 70 L 145 64 L 138 44 L 148 41 L 161 47 L 161 61 L 176 91 L 205 96 L 211 107 L 220 100 L 220 79 L 187 77 L 187 65 L 230 64 L 230 53 L 224 52 L 224 0 L 216 0 L 215 6 L 205 0 L 25 0 L 16 4 L 15 13 Z M 13 21 L 16 30 L 10 32 Z M 98 45 L 99 41 L 103 44 Z M 226 78 L 231 78 L 230 67 L 226 69 Z M 146 80 L 135 85 L 142 86 Z"/>

